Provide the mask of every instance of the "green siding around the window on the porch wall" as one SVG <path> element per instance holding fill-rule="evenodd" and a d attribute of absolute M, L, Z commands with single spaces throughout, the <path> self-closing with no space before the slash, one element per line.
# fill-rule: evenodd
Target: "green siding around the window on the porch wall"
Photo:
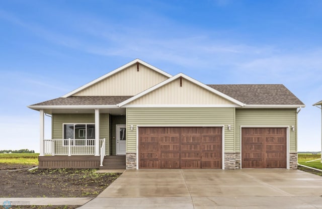
<path fill-rule="evenodd" d="M 106 140 L 106 155 L 109 155 L 109 114 L 100 114 L 100 139 Z M 95 124 L 95 114 L 52 114 L 52 138 L 63 138 L 63 124 Z"/>

